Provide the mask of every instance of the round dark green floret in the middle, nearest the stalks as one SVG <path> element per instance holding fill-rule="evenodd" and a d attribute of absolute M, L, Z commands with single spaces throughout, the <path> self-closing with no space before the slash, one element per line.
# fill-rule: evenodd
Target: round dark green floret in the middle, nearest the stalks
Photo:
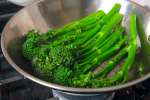
<path fill-rule="evenodd" d="M 49 56 L 52 59 L 52 64 L 55 66 L 72 67 L 75 61 L 73 51 L 64 45 L 50 46 Z"/>

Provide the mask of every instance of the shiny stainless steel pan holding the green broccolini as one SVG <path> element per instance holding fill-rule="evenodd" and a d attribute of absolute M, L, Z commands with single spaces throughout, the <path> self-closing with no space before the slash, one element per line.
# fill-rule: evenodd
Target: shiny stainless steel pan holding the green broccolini
<path fill-rule="evenodd" d="M 31 70 L 29 62 L 27 62 L 21 55 L 22 37 L 30 29 L 38 29 L 41 32 L 46 32 L 49 28 L 57 28 L 64 24 L 79 19 L 103 9 L 108 12 L 110 8 L 119 2 L 122 5 L 121 13 L 125 15 L 123 25 L 128 32 L 129 14 L 135 12 L 138 15 L 141 23 L 139 25 L 139 36 L 141 43 L 139 47 L 140 53 L 137 54 L 135 63 L 129 73 L 129 80 L 124 84 L 104 88 L 72 88 L 60 86 L 46 82 L 36 77 Z M 122 88 L 129 87 L 150 77 L 150 13 L 149 11 L 135 3 L 125 0 L 41 0 L 28 6 L 18 12 L 7 23 L 2 33 L 1 46 L 4 56 L 8 62 L 25 77 L 50 88 L 78 93 L 99 93 L 109 92 Z M 138 39 L 137 39 L 138 40 Z"/>

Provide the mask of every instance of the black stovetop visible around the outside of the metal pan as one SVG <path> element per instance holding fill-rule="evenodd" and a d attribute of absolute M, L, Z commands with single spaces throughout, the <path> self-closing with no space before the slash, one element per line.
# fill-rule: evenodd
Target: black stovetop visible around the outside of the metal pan
<path fill-rule="evenodd" d="M 10 17 L 21 8 L 6 0 L 0 0 L 0 33 Z M 150 79 L 133 87 L 119 90 L 115 93 L 113 100 L 150 100 L 149 84 Z M 0 100 L 54 100 L 54 98 L 51 89 L 36 84 L 17 73 L 7 63 L 0 49 Z"/>

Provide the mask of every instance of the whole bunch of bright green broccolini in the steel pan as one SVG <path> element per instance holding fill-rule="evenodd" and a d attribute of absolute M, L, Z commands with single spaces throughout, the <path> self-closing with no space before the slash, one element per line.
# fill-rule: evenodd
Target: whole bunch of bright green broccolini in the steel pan
<path fill-rule="evenodd" d="M 115 4 L 107 14 L 100 10 L 45 34 L 29 31 L 23 56 L 39 77 L 61 85 L 105 87 L 125 81 L 137 49 L 136 16 L 130 16 L 127 36 L 120 7 Z M 108 76 L 120 62 L 118 72 Z"/>

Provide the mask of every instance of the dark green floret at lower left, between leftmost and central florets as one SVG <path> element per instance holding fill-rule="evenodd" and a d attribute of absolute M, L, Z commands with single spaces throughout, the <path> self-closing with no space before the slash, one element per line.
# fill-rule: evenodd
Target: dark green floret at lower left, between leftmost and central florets
<path fill-rule="evenodd" d="M 32 59 L 32 65 L 38 76 L 49 81 L 52 79 L 52 70 L 55 68 L 51 64 L 51 58 L 49 51 L 45 48 L 41 48 L 38 54 Z"/>

